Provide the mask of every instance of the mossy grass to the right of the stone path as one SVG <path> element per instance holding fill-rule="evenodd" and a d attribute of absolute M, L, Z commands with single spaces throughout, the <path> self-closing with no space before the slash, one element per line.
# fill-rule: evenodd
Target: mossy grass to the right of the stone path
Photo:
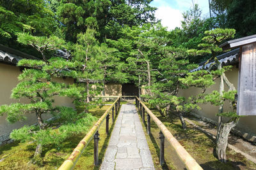
<path fill-rule="evenodd" d="M 215 155 L 215 144 L 204 133 L 196 130 L 189 124 L 188 129 L 184 131 L 181 127 L 179 117 L 175 115 L 170 115 L 168 118 L 161 117 L 157 110 L 150 108 L 149 106 L 148 108 L 157 118 L 159 118 L 159 120 L 161 120 L 161 122 L 163 122 L 167 129 L 179 143 L 184 146 L 189 154 L 196 159 L 203 169 L 256 169 L 256 164 L 229 148 L 227 148 L 227 163 L 221 163 Z M 143 129 L 145 134 L 147 134 L 145 129 L 147 127 L 147 119 L 145 120 L 146 124 L 143 126 Z M 164 143 L 164 158 L 166 164 L 163 167 L 159 165 L 159 128 L 152 122 L 152 120 L 151 132 L 152 134 L 150 136 L 146 135 L 146 138 L 156 169 L 183 169 L 184 165 L 180 162 L 177 154 L 167 141 Z"/>

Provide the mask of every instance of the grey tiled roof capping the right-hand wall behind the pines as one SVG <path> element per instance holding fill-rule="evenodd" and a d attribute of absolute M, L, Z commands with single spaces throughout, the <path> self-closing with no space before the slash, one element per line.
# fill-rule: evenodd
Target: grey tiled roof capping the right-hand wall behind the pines
<path fill-rule="evenodd" d="M 219 55 L 217 58 L 220 61 L 220 63 L 222 64 L 222 66 L 227 66 L 227 65 L 235 64 L 237 62 L 238 54 L 239 54 L 239 48 L 232 50 L 230 52 L 227 52 L 227 53 L 223 53 L 223 54 Z M 199 67 L 191 70 L 190 72 L 198 71 L 200 69 L 209 69 L 209 67 L 215 63 L 215 61 L 213 61 L 213 60 L 207 64 L 205 64 L 205 62 L 206 61 L 201 62 L 199 64 Z"/>

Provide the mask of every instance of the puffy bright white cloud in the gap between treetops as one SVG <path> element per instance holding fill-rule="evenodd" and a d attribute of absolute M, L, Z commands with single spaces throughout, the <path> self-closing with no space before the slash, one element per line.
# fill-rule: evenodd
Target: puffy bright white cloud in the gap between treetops
<path fill-rule="evenodd" d="M 161 24 L 164 27 L 168 27 L 168 30 L 180 27 L 183 19 L 181 11 L 175 10 L 170 6 L 159 6 L 156 10 L 156 18 L 161 20 Z"/>

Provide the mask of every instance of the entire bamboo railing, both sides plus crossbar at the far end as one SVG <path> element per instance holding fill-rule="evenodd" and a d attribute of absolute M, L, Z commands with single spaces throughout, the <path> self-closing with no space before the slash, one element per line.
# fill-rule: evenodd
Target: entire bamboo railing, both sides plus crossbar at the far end
<path fill-rule="evenodd" d="M 94 138 L 94 164 L 99 165 L 99 157 L 98 157 L 98 141 L 99 141 L 99 133 L 98 130 L 100 125 L 106 118 L 106 133 L 108 134 L 108 120 L 109 120 L 109 111 L 112 109 L 112 121 L 114 122 L 114 110 L 117 115 L 117 112 L 120 108 L 120 99 L 121 97 L 134 97 L 136 99 L 136 106 L 138 111 L 140 112 L 141 118 L 145 123 L 145 111 L 147 114 L 147 133 L 150 134 L 150 119 L 152 119 L 157 127 L 160 129 L 160 164 L 164 163 L 164 138 L 170 143 L 175 153 L 178 155 L 179 159 L 184 163 L 187 169 L 189 170 L 202 170 L 202 167 L 196 162 L 193 157 L 180 145 L 179 141 L 175 139 L 172 133 L 165 127 L 163 122 L 159 120 L 152 111 L 150 111 L 147 106 L 137 97 L 137 96 L 99 96 L 104 98 L 117 97 L 116 101 L 105 111 L 105 113 L 100 117 L 95 125 L 93 125 L 92 129 L 86 134 L 86 136 L 79 142 L 77 147 L 73 150 L 67 160 L 63 162 L 63 164 L 59 167 L 59 170 L 69 170 L 73 169 L 76 165 L 77 160 L 83 153 L 84 149 L 90 143 L 92 138 Z"/>

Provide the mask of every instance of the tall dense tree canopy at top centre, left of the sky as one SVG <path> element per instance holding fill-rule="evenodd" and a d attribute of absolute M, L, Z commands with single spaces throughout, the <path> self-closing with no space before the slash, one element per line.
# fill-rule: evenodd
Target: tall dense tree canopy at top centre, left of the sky
<path fill-rule="evenodd" d="M 97 37 L 117 39 L 117 33 L 125 25 L 141 25 L 154 21 L 151 1 L 67 1 L 61 0 L 58 16 L 68 41 L 76 42 L 77 34 L 87 27 L 97 29 Z"/>

